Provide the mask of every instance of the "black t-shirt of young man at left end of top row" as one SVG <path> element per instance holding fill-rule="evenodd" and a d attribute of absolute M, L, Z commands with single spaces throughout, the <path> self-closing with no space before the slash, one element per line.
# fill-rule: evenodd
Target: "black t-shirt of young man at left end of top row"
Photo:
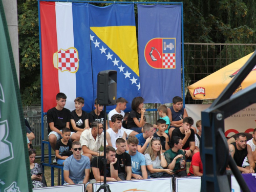
<path fill-rule="evenodd" d="M 48 134 L 51 132 L 49 123 L 53 122 L 54 126 L 58 130 L 66 127 L 67 122 L 70 122 L 70 111 L 63 108 L 61 111 L 56 108 L 52 108 L 47 112 L 47 122 L 48 122 Z"/>

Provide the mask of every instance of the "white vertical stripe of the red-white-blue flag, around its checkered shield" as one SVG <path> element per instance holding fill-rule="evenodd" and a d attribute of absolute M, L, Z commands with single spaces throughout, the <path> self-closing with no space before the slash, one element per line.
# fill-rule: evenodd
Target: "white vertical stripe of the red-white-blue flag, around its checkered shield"
<path fill-rule="evenodd" d="M 55 3 L 56 28 L 59 49 L 74 47 L 72 3 Z M 74 110 L 76 98 L 76 74 L 59 71 L 59 91 L 67 95 L 65 108 Z"/>

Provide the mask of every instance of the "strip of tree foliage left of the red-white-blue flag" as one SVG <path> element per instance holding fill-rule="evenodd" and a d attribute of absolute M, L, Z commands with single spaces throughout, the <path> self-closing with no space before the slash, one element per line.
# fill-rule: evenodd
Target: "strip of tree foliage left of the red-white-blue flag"
<path fill-rule="evenodd" d="M 23 104 L 40 104 L 40 54 L 36 0 L 18 0 L 19 74 Z"/>

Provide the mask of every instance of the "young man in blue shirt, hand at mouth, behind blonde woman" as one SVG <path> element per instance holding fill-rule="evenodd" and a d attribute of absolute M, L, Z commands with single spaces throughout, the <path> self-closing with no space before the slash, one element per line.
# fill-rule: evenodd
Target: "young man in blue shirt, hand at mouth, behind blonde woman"
<path fill-rule="evenodd" d="M 143 130 L 144 130 L 144 133 L 135 135 L 135 137 L 137 137 L 137 139 L 139 140 L 138 152 L 142 154 L 146 151 L 146 148 L 148 144 L 151 142 L 153 135 L 155 133 L 154 126 L 150 123 L 144 124 Z"/>

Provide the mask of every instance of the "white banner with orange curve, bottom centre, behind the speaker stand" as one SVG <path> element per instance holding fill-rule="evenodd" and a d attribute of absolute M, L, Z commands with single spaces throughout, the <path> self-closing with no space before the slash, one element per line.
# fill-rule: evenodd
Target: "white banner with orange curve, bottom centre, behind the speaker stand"
<path fill-rule="evenodd" d="M 93 191 L 97 191 L 102 183 L 94 183 Z M 172 178 L 144 179 L 132 181 L 108 182 L 112 192 L 172 192 Z M 100 191 L 104 191 L 101 189 Z"/>

